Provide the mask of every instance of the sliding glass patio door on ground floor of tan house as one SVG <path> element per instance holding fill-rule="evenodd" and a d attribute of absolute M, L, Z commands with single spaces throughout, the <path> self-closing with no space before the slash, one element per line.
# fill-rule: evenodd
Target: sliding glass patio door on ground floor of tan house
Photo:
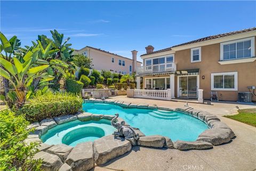
<path fill-rule="evenodd" d="M 197 76 L 179 77 L 179 96 L 197 97 Z"/>

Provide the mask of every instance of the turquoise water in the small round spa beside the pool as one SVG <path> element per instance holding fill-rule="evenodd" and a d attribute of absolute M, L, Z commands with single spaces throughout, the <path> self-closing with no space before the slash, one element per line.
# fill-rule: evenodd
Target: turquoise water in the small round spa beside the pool
<path fill-rule="evenodd" d="M 67 144 L 76 146 L 78 143 L 94 141 L 102 136 L 113 134 L 115 128 L 111 126 L 109 120 L 99 121 L 71 121 L 49 129 L 41 136 L 41 140 L 46 144 Z"/>

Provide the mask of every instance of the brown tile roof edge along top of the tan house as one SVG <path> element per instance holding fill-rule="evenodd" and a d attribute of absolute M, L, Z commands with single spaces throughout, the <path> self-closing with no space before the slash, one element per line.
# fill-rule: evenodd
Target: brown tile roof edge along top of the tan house
<path fill-rule="evenodd" d="M 211 39 L 215 39 L 215 38 L 236 35 L 236 34 L 240 34 L 240 33 L 243 33 L 243 32 L 248 32 L 248 31 L 253 31 L 253 30 L 256 30 L 256 27 L 249 28 L 249 29 L 244 29 L 244 30 L 226 32 L 226 33 L 223 33 L 223 34 L 218 34 L 218 35 L 213 35 L 213 36 L 207 36 L 207 37 L 199 38 L 199 39 L 187 42 L 187 43 L 182 43 L 182 44 L 179 44 L 179 45 L 174 45 L 172 47 L 183 46 L 183 45 L 193 44 L 193 43 L 197 43 L 197 42 L 203 42 L 203 41 L 206 41 L 206 40 L 211 40 Z M 140 56 L 145 56 L 145 55 L 149 55 L 149 54 L 170 51 L 170 50 L 172 50 L 172 47 L 164 48 L 162 50 L 151 52 L 151 53 L 142 54 Z"/>

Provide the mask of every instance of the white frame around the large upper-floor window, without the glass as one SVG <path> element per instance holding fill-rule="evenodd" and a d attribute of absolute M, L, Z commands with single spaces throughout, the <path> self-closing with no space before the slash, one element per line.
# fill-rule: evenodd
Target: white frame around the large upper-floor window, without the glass
<path fill-rule="evenodd" d="M 236 46 L 237 46 L 238 42 L 243 42 L 243 41 L 247 41 L 247 40 L 251 40 L 251 56 L 250 57 L 237 58 L 237 47 L 236 47 L 236 58 L 235 59 L 224 59 L 224 56 L 223 56 L 224 55 L 223 54 L 224 45 L 236 43 Z M 255 50 L 255 37 L 247 37 L 247 38 L 232 40 L 232 41 L 229 41 L 229 42 L 223 42 L 223 43 L 220 43 L 220 61 L 241 60 L 241 59 L 252 58 L 252 57 L 255 56 L 254 50 Z"/>

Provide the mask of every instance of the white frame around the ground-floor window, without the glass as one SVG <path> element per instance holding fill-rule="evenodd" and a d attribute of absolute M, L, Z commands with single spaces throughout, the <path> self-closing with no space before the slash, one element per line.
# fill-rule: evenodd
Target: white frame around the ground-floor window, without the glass
<path fill-rule="evenodd" d="M 234 75 L 234 88 L 214 88 L 214 76 L 225 76 L 225 75 Z M 238 79 L 237 79 L 237 72 L 218 72 L 218 73 L 211 73 L 211 90 L 215 91 L 237 91 L 238 89 Z M 223 86 L 224 86 L 224 79 L 223 79 Z"/>

